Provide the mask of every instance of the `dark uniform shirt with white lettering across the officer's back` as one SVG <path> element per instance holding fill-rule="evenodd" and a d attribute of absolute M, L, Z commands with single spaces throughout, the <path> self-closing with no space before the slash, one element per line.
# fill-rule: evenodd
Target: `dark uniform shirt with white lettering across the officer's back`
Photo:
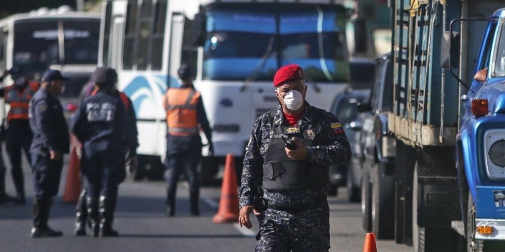
<path fill-rule="evenodd" d="M 83 143 L 86 153 L 135 149 L 130 118 L 118 95 L 99 91 L 85 98 L 70 122 L 70 130 Z"/>

